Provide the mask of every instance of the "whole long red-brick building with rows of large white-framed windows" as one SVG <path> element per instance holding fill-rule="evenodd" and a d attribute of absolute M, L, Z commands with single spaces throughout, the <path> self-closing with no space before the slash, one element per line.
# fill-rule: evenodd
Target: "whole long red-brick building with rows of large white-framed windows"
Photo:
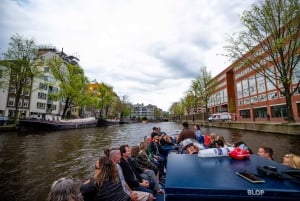
<path fill-rule="evenodd" d="M 254 54 L 262 54 L 258 45 Z M 244 59 L 252 55 L 247 53 Z M 283 86 L 278 81 L 276 68 L 267 62 L 263 63 L 263 69 L 274 77 L 272 82 L 257 73 L 255 66 L 245 64 L 239 59 L 224 71 L 215 76 L 216 90 L 208 102 L 209 113 L 229 112 L 232 119 L 239 121 L 278 121 L 287 120 L 287 106 L 285 96 L 279 89 Z M 262 61 L 264 62 L 264 61 Z M 255 64 L 252 64 L 255 65 Z M 276 78 L 276 79 L 275 79 Z M 296 93 L 292 96 L 292 108 L 296 122 L 300 121 L 300 63 L 293 72 L 292 90 Z M 274 85 L 275 83 L 275 85 Z"/>

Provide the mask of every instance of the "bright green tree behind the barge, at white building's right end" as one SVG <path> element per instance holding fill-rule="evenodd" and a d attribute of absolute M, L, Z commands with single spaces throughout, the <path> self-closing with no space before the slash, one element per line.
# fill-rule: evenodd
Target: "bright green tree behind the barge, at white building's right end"
<path fill-rule="evenodd" d="M 71 108 L 88 103 L 88 79 L 83 69 L 74 62 L 60 57 L 54 57 L 47 62 L 55 79 L 59 81 L 60 90 L 49 95 L 52 99 L 61 99 L 64 103 L 62 118 L 66 118 Z"/>

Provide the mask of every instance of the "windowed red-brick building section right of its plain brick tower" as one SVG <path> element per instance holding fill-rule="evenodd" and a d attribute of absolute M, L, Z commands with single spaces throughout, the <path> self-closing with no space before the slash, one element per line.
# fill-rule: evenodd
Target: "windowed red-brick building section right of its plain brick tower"
<path fill-rule="evenodd" d="M 268 66 L 276 75 L 274 66 Z M 300 80 L 300 63 L 298 63 L 292 79 L 292 89 Z M 282 88 L 277 79 L 276 86 Z M 286 99 L 269 79 L 251 70 L 247 66 L 234 68 L 236 93 L 236 110 L 238 120 L 283 121 L 287 118 Z M 300 88 L 292 96 L 292 108 L 296 121 L 300 121 Z"/>

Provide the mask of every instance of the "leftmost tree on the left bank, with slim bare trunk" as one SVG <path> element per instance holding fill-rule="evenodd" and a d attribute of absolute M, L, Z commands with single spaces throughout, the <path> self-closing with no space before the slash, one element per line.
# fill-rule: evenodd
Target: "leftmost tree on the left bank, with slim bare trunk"
<path fill-rule="evenodd" d="M 16 120 L 19 117 L 21 94 L 25 91 L 30 92 L 33 78 L 41 75 L 39 66 L 42 61 L 33 39 L 25 39 L 15 34 L 10 37 L 8 45 L 7 52 L 3 53 L 4 60 L 0 61 L 3 78 L 0 87 L 15 93 Z"/>

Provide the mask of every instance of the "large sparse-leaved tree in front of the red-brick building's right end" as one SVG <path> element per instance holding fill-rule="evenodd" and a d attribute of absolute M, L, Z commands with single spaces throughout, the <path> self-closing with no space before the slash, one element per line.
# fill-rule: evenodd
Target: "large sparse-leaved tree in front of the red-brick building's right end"
<path fill-rule="evenodd" d="M 249 66 L 285 96 L 288 122 L 295 122 L 292 96 L 300 85 L 294 75 L 300 70 L 299 8 L 299 0 L 264 0 L 252 5 L 241 17 L 246 30 L 229 37 L 225 46 L 227 56 L 240 59 L 238 65 Z"/>

